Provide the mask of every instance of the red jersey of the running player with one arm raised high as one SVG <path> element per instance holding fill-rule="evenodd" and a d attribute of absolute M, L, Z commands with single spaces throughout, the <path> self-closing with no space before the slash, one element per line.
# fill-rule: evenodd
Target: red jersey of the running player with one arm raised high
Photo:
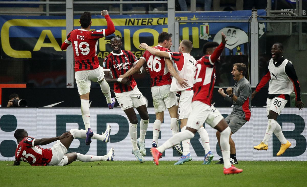
<path fill-rule="evenodd" d="M 200 101 L 211 105 L 213 88 L 215 83 L 214 63 L 219 58 L 225 44 L 221 43 L 212 53 L 212 55 L 202 56 L 196 61 L 196 71 L 193 80 L 193 101 Z"/>

